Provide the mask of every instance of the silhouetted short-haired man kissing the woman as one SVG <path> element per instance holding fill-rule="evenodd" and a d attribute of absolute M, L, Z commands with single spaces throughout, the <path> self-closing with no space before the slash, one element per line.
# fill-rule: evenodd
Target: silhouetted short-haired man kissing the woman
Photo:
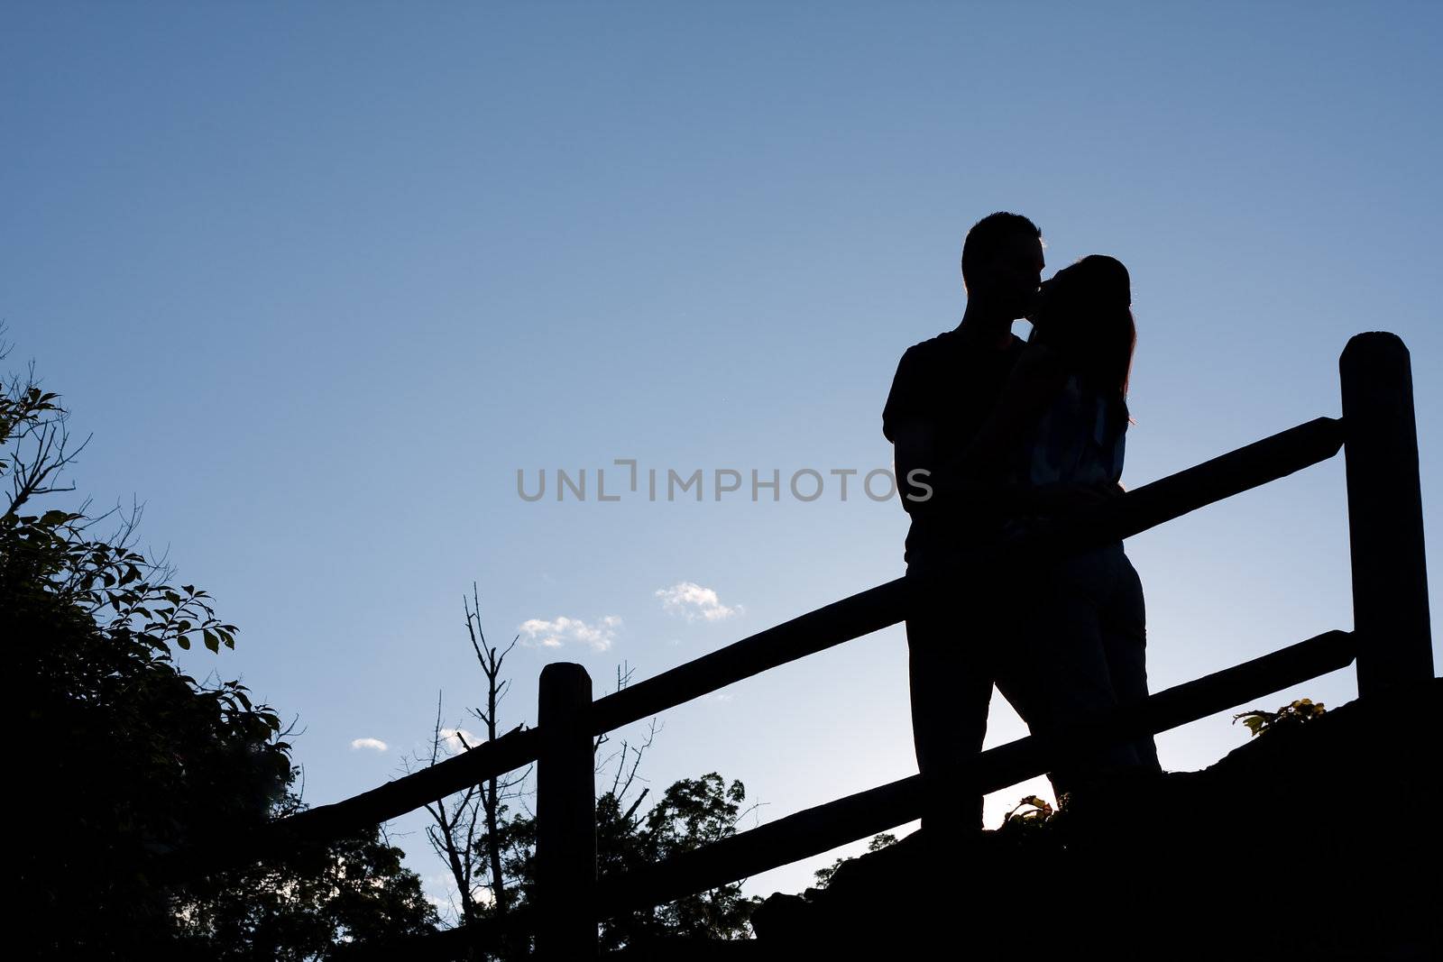
<path fill-rule="evenodd" d="M 906 623 L 912 737 L 925 786 L 922 825 L 938 834 L 981 828 L 981 795 L 958 793 L 939 773 L 981 751 L 994 679 L 1017 701 L 997 662 L 1004 650 L 997 636 L 1014 604 L 1004 578 L 986 570 L 944 575 L 944 565 L 1001 537 L 1006 512 L 962 496 L 952 475 L 1022 355 L 1012 323 L 1032 309 L 1043 267 L 1042 232 L 1032 221 L 1006 212 L 978 221 L 962 244 L 961 323 L 902 355 L 882 412 L 912 516 L 906 562 L 921 586 Z M 954 577 L 967 584 L 949 583 Z"/>

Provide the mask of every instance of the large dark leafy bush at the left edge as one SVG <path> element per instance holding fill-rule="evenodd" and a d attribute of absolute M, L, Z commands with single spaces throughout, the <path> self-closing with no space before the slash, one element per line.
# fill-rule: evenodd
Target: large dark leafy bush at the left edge
<path fill-rule="evenodd" d="M 280 717 L 238 681 L 198 682 L 175 648 L 234 648 L 209 596 L 173 587 L 133 551 L 139 512 L 39 511 L 66 492 L 65 411 L 33 379 L 0 392 L 0 626 L 17 662 L 22 831 L 14 832 L 26 955 L 320 958 L 377 927 L 431 919 L 416 877 L 377 832 L 309 861 L 185 887 L 156 860 L 299 805 Z M 81 446 L 84 447 L 84 446 Z M 97 537 L 110 519 L 117 531 Z"/>

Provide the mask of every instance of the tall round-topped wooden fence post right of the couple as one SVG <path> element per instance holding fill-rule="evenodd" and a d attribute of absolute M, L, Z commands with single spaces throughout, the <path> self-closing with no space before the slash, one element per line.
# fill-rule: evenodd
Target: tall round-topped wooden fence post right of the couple
<path fill-rule="evenodd" d="M 1433 678 L 1413 371 L 1397 335 L 1348 342 L 1338 363 L 1348 463 L 1358 694 Z"/>

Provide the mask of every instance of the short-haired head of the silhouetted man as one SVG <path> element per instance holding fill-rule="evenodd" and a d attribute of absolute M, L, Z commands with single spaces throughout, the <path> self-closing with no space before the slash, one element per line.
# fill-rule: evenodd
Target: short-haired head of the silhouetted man
<path fill-rule="evenodd" d="M 1030 310 L 1043 267 L 1042 231 L 1020 213 L 988 213 L 962 241 L 968 300 L 1009 319 Z"/>

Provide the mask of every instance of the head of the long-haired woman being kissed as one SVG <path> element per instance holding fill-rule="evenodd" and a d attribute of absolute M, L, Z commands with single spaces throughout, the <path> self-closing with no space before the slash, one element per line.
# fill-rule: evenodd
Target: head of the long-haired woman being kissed
<path fill-rule="evenodd" d="M 1043 284 L 1033 323 L 1085 381 L 1124 401 L 1137 345 L 1131 304 L 1131 278 L 1123 262 L 1091 254 Z"/>

